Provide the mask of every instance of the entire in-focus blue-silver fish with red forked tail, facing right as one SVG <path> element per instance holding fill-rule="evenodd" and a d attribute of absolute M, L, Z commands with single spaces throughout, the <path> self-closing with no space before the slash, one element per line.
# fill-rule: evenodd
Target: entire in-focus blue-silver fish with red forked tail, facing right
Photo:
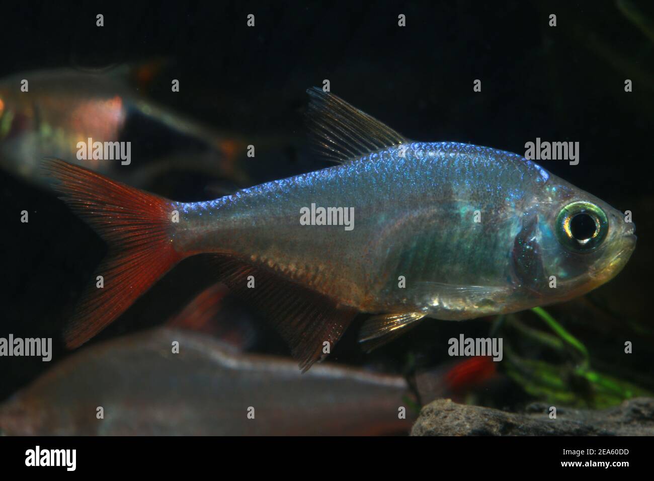
<path fill-rule="evenodd" d="M 361 332 L 375 347 L 424 317 L 472 319 L 579 296 L 615 276 L 635 247 L 622 213 L 518 154 L 408 141 L 336 96 L 309 93 L 319 145 L 341 165 L 218 200 L 126 192 L 49 164 L 64 197 L 118 247 L 97 274 L 131 287 L 92 287 L 69 345 L 199 253 L 222 258 L 216 275 L 271 311 L 306 369 L 356 313 L 375 314 Z M 331 224 L 318 221 L 317 206 L 336 209 Z"/>

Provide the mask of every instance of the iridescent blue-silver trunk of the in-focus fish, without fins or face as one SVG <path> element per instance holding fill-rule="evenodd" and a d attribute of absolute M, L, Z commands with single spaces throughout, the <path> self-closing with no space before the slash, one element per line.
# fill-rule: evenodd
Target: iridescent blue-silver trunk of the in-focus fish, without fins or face
<path fill-rule="evenodd" d="M 515 253 L 516 238 L 528 228 L 547 247 L 550 211 L 579 195 L 589 198 L 517 154 L 411 143 L 212 202 L 175 204 L 183 215 L 173 246 L 258 262 L 361 312 L 408 307 L 470 319 L 579 294 L 564 287 L 579 274 L 568 274 L 570 253 L 559 251 L 543 272 L 559 277 L 557 291 L 539 283 L 547 277 L 521 279 L 515 268 L 523 254 Z M 353 208 L 353 230 L 301 225 L 301 209 L 311 204 Z M 537 224 L 525 227 L 530 215 Z M 613 215 L 617 225 L 622 216 Z"/>

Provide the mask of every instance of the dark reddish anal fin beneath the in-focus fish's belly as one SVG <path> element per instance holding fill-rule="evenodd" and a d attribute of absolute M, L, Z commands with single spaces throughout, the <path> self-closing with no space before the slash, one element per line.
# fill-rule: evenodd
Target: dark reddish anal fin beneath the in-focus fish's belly
<path fill-rule="evenodd" d="M 216 257 L 216 262 L 222 282 L 275 325 L 300 362 L 302 372 L 326 357 L 324 342 L 334 349 L 356 316 L 353 308 L 339 306 L 266 268 L 228 257 Z M 254 288 L 247 287 L 249 276 L 254 276 Z"/>

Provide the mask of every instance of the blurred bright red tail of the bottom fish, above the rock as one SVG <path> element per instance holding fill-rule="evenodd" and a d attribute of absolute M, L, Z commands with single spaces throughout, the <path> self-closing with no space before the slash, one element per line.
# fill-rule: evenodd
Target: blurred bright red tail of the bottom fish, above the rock
<path fill-rule="evenodd" d="M 415 376 L 415 383 L 422 404 L 434 399 L 452 397 L 456 401 L 497 374 L 495 362 L 491 356 L 475 356 L 464 361 L 457 361 L 445 367 L 439 366 L 424 370 Z"/>

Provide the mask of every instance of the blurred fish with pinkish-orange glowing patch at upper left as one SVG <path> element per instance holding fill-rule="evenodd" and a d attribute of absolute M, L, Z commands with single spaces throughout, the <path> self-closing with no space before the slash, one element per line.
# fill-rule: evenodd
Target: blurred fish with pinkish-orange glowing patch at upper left
<path fill-rule="evenodd" d="M 243 163 L 249 142 L 147 98 L 148 84 L 161 67 L 162 61 L 97 72 L 62 68 L 0 80 L 0 165 L 39 185 L 46 185 L 39 160 L 53 155 L 135 186 L 173 170 L 247 185 Z M 88 139 L 130 141 L 133 164 L 78 158 L 78 142 Z M 256 144 L 265 148 L 266 142 L 257 139 Z"/>

